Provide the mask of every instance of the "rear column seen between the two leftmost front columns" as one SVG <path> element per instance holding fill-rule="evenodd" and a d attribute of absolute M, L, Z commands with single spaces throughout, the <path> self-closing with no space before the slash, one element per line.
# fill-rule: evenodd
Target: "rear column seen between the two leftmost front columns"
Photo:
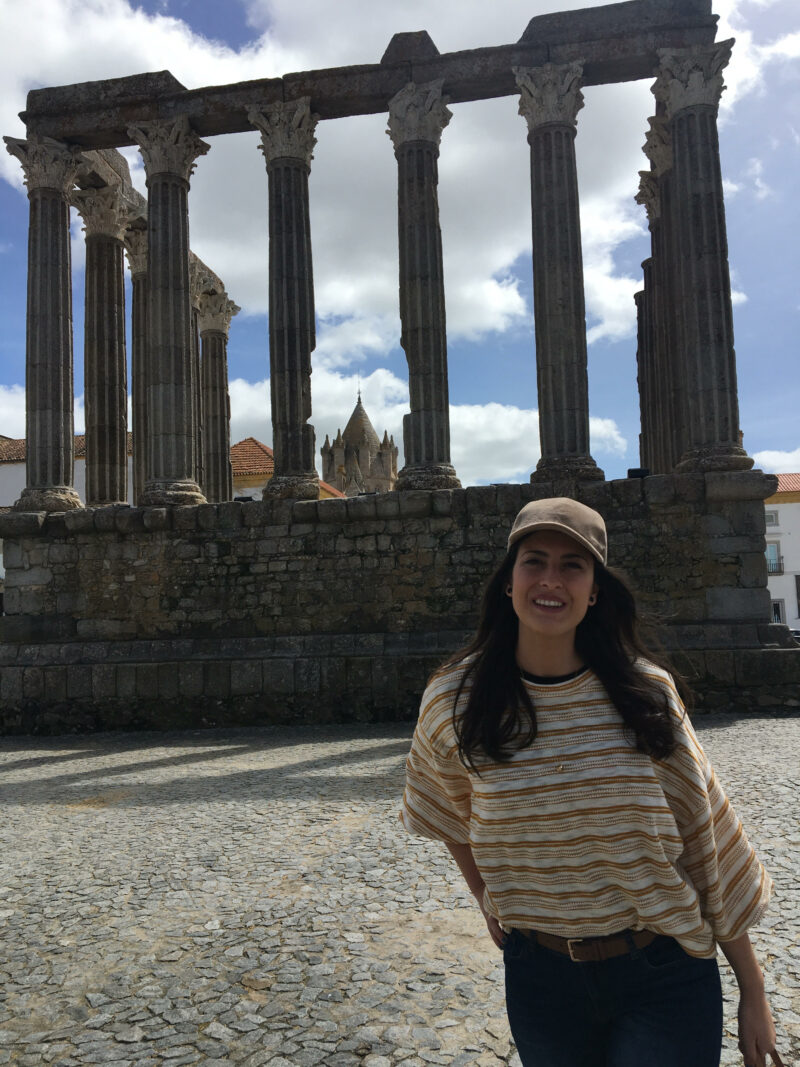
<path fill-rule="evenodd" d="M 86 504 L 124 504 L 128 499 L 128 371 L 123 234 L 130 204 L 121 186 L 79 189 L 73 203 L 86 235 Z"/>

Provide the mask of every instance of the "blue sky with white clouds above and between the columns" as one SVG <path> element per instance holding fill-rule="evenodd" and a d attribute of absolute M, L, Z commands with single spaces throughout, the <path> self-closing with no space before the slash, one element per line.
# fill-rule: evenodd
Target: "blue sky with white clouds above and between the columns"
<path fill-rule="evenodd" d="M 169 68 L 188 87 L 377 62 L 393 33 L 427 29 L 441 51 L 517 39 L 558 0 L 0 0 L 13 41 L 0 70 L 0 132 L 41 85 Z M 368 11 L 365 18 L 364 12 Z M 797 242 L 800 13 L 796 0 L 720 0 L 735 36 L 720 115 L 745 445 L 766 469 L 800 469 Z M 649 254 L 635 204 L 653 111 L 644 82 L 585 93 L 578 116 L 592 452 L 607 477 L 638 466 L 633 293 Z M 439 159 L 452 455 L 465 484 L 526 479 L 539 455 L 526 127 L 511 98 L 452 107 Z M 385 116 L 321 123 L 311 164 L 319 316 L 317 446 L 343 427 L 361 384 L 378 432 L 401 443 L 407 372 L 397 310 L 396 164 Z M 190 195 L 192 246 L 242 307 L 228 346 L 233 440 L 271 443 L 267 378 L 267 180 L 256 133 L 211 139 Z M 144 191 L 138 154 L 126 149 Z M 21 171 L 0 159 L 0 433 L 25 433 L 28 211 Z M 82 237 L 73 226 L 77 418 L 82 396 Z"/>

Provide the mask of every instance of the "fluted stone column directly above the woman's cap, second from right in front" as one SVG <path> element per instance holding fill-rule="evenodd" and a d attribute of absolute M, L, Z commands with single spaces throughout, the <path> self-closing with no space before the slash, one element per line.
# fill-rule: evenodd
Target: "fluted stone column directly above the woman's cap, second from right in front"
<path fill-rule="evenodd" d="M 582 65 L 514 68 L 528 123 L 539 435 L 532 481 L 597 479 L 589 452 L 583 259 L 575 162 Z"/>

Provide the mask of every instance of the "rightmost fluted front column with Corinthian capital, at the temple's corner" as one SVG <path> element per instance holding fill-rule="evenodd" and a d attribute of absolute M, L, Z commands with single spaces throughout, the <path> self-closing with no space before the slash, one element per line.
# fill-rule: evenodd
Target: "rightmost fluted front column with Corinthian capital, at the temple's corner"
<path fill-rule="evenodd" d="M 672 195 L 678 375 L 685 383 L 687 448 L 676 469 L 746 471 L 733 341 L 717 110 L 733 41 L 660 49 L 653 93 L 672 129 Z"/>

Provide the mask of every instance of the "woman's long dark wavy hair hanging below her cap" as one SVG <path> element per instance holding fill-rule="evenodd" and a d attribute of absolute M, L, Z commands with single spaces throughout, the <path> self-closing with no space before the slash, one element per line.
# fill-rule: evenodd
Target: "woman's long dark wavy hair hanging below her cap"
<path fill-rule="evenodd" d="M 466 662 L 454 706 L 467 681 L 466 705 L 454 714 L 459 755 L 477 770 L 476 760 L 502 763 L 537 736 L 537 713 L 516 663 L 518 620 L 506 589 L 519 542 L 512 545 L 483 594 L 475 638 L 445 666 Z M 675 748 L 667 698 L 634 666 L 638 657 L 670 670 L 685 701 L 688 689 L 679 675 L 640 633 L 636 600 L 625 578 L 601 562 L 594 564 L 598 593 L 575 633 L 575 650 L 606 688 L 612 704 L 634 733 L 636 747 L 655 759 Z"/>

